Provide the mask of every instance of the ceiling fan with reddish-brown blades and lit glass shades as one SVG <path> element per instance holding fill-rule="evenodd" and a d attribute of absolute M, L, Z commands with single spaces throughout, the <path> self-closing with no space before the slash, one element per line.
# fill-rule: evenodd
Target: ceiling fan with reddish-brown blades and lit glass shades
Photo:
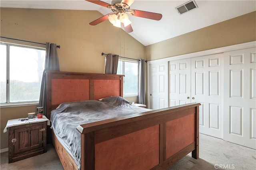
<path fill-rule="evenodd" d="M 161 20 L 162 18 L 162 14 L 130 9 L 130 5 L 134 2 L 134 0 L 112 0 L 112 4 L 108 4 L 100 0 L 86 1 L 110 8 L 112 10 L 112 13 L 109 13 L 101 18 L 98 18 L 97 20 L 90 22 L 90 25 L 97 25 L 103 21 L 109 20 L 114 26 L 121 27 L 122 25 L 127 33 L 131 33 L 133 31 L 131 25 L 132 22 L 129 20 L 128 15 L 157 21 Z"/>

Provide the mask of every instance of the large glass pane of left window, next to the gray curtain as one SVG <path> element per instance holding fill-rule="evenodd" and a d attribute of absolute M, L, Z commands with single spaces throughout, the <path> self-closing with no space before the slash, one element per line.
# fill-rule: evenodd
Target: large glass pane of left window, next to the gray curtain
<path fill-rule="evenodd" d="M 45 51 L 10 46 L 10 102 L 38 101 Z"/>

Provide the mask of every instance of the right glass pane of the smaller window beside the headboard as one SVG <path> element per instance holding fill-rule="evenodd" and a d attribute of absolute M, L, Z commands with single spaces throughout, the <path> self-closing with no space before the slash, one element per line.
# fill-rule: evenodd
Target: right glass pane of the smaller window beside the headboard
<path fill-rule="evenodd" d="M 124 95 L 138 94 L 138 63 L 124 63 Z"/>

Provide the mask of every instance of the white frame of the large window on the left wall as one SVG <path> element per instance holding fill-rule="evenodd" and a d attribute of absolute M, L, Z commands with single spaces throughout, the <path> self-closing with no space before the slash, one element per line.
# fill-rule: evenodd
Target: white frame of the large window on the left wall
<path fill-rule="evenodd" d="M 45 45 L 24 45 L 20 43 L 9 43 L 0 41 L 1 45 L 6 45 L 6 103 L 0 103 L 1 108 L 4 107 L 20 107 L 20 106 L 36 106 L 39 101 L 27 102 L 10 102 L 10 46 L 24 47 L 30 49 L 46 50 Z"/>

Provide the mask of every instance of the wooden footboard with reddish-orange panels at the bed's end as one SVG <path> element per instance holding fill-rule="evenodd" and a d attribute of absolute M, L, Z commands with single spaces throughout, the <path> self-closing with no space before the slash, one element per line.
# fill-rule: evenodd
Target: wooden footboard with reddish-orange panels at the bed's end
<path fill-rule="evenodd" d="M 200 104 L 185 104 L 87 123 L 81 169 L 166 169 L 192 152 L 199 157 Z"/>

